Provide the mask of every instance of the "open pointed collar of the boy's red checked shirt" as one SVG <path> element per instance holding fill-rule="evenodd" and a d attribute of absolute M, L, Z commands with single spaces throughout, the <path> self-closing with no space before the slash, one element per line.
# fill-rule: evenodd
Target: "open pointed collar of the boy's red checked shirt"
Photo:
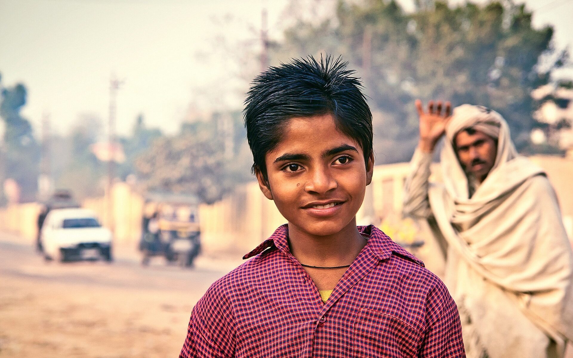
<path fill-rule="evenodd" d="M 367 237 L 368 246 L 372 250 L 372 253 L 380 260 L 389 258 L 393 253 L 401 255 L 403 257 L 411 259 L 411 261 L 417 262 L 419 265 L 424 266 L 424 263 L 410 254 L 402 246 L 398 245 L 388 235 L 384 234 L 382 230 L 374 225 L 368 226 L 358 226 L 358 231 L 360 234 Z M 288 247 L 288 224 L 281 225 L 274 230 L 274 233 L 270 235 L 268 239 L 263 241 L 260 245 L 255 247 L 250 253 L 243 256 L 243 259 L 251 258 L 255 255 L 262 253 L 269 247 L 276 247 L 279 251 L 284 253 L 289 252 Z"/>

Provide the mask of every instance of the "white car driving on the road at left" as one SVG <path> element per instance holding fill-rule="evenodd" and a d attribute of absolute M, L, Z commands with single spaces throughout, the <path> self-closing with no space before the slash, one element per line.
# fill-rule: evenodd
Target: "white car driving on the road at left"
<path fill-rule="evenodd" d="M 41 240 L 46 260 L 113 259 L 111 231 L 100 225 L 91 210 L 51 210 L 42 225 Z"/>

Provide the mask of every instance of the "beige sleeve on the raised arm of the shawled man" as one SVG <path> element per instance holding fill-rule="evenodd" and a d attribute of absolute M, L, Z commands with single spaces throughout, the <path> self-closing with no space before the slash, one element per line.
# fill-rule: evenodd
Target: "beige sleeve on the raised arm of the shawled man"
<path fill-rule="evenodd" d="M 428 200 L 428 180 L 432 154 L 416 149 L 410 160 L 410 175 L 404 185 L 404 202 L 402 214 L 405 217 L 429 218 L 431 216 Z"/>

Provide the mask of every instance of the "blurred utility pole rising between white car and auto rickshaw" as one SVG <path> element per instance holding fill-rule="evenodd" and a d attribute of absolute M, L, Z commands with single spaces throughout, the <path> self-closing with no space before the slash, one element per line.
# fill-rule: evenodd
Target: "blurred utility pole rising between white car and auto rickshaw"
<path fill-rule="evenodd" d="M 115 76 L 111 76 L 109 80 L 109 124 L 108 124 L 108 200 L 107 200 L 107 217 L 109 230 L 115 233 L 115 217 L 113 213 L 113 176 L 115 175 L 115 113 L 116 113 L 116 99 L 117 90 L 123 81 L 117 80 Z"/>

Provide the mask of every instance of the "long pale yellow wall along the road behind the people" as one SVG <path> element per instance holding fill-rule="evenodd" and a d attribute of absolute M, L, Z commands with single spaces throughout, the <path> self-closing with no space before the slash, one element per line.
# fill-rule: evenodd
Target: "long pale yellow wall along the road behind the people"
<path fill-rule="evenodd" d="M 532 160 L 545 168 L 557 192 L 563 219 L 570 238 L 573 237 L 573 160 L 554 156 L 534 156 Z M 411 223 L 401 221 L 403 184 L 409 173 L 408 163 L 376 166 L 372 184 L 367 187 L 364 203 L 357 215 L 359 225 L 374 223 L 386 230 L 400 231 Z M 439 179 L 437 166 L 433 176 Z M 144 200 L 126 183 L 116 183 L 112 190 L 115 215 L 116 244 L 137 247 L 141 235 Z M 103 198 L 84 200 L 83 206 L 96 211 L 109 227 L 106 194 Z M 40 205 L 20 204 L 0 209 L 0 230 L 19 234 L 33 242 L 36 237 L 36 218 Z M 238 187 L 232 194 L 212 205 L 199 207 L 203 252 L 206 255 L 242 255 L 268 238 L 286 220 L 274 202 L 262 195 L 256 182 Z M 407 237 L 415 238 L 416 234 Z"/>

